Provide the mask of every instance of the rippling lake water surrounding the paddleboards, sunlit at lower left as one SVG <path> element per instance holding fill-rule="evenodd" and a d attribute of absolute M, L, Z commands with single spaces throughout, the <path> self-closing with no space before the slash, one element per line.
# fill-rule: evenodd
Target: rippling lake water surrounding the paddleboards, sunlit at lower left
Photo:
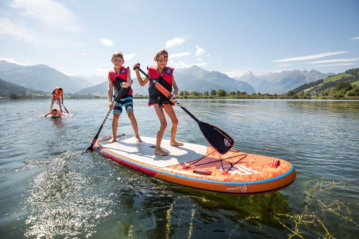
<path fill-rule="evenodd" d="M 359 101 L 178 101 L 231 135 L 234 149 L 292 163 L 294 183 L 255 196 L 175 186 L 83 152 L 106 99 L 65 99 L 71 114 L 60 119 L 42 118 L 50 99 L 0 101 L 0 238 L 359 237 Z M 208 145 L 174 109 L 176 139 Z M 134 110 L 140 135 L 156 137 L 147 100 L 134 99 Z M 126 113 L 117 133 L 133 134 Z"/>

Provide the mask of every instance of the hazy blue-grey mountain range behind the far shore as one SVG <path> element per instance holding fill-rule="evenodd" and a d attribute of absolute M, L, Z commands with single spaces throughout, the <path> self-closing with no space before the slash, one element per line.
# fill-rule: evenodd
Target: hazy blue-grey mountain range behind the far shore
<path fill-rule="evenodd" d="M 132 71 L 132 76 L 134 72 Z M 319 71 L 282 71 L 280 73 L 246 72 L 243 76 L 231 78 L 218 71 L 206 71 L 198 66 L 179 68 L 174 70 L 174 78 L 179 90 L 211 91 L 223 89 L 230 91 L 246 91 L 252 93 L 281 94 L 292 90 L 304 83 L 316 81 L 335 75 L 335 73 L 321 73 Z M 6 61 L 0 61 L 0 77 L 29 89 L 51 92 L 56 86 L 64 88 L 66 92 L 75 94 L 107 95 L 108 81 L 102 76 L 67 76 L 54 68 L 44 64 L 21 66 Z M 137 78 L 132 78 L 134 93 L 148 95 L 148 87 L 140 87 Z M 102 82 L 102 83 L 98 83 Z"/>

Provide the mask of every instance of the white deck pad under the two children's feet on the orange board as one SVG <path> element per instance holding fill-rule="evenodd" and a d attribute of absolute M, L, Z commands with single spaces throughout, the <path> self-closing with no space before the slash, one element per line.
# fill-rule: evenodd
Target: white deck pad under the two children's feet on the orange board
<path fill-rule="evenodd" d="M 106 137 L 107 138 L 107 137 Z M 136 143 L 136 138 L 130 135 L 117 135 L 114 143 L 101 142 L 101 147 L 139 162 L 150 164 L 156 167 L 167 167 L 171 165 L 190 162 L 202 158 L 207 153 L 207 147 L 199 144 L 183 143 L 183 146 L 170 146 L 170 140 L 162 139 L 161 148 L 169 155 L 160 156 L 154 154 L 156 138 L 141 136 L 142 142 Z"/>

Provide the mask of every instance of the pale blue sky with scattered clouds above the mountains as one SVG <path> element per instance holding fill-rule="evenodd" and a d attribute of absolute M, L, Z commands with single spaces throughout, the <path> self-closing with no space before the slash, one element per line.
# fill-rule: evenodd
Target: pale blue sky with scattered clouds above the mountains
<path fill-rule="evenodd" d="M 230 77 L 339 73 L 359 67 L 359 1 L 1 0 L 0 39 L 0 59 L 67 75 L 106 76 L 115 51 L 154 64 L 162 48 L 168 66 Z"/>

